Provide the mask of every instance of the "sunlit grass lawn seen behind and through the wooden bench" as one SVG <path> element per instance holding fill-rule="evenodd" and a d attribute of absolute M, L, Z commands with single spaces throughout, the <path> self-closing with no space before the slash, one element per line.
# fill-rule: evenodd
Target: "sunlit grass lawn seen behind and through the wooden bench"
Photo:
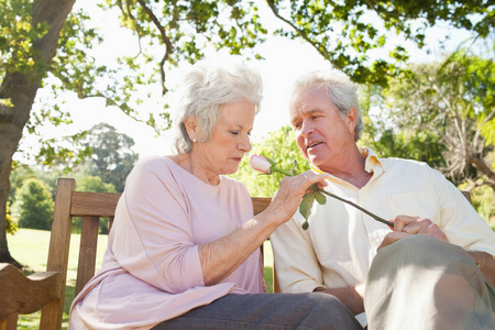
<path fill-rule="evenodd" d="M 50 231 L 19 229 L 18 232 L 13 235 L 7 234 L 7 241 L 11 255 L 18 262 L 29 267 L 29 271 L 26 273 L 46 271 L 46 261 L 50 246 Z M 77 258 L 79 257 L 79 234 L 72 235 L 62 329 L 67 329 L 68 327 L 68 309 L 70 307 L 70 302 L 74 299 L 74 293 L 76 289 L 76 270 Z M 107 235 L 98 237 L 97 270 L 99 270 L 101 266 L 103 253 L 107 249 Z M 268 293 L 273 293 L 273 255 L 270 242 L 265 242 L 263 249 L 266 287 L 268 289 Z M 41 312 L 35 312 L 29 316 L 20 316 L 18 329 L 37 329 L 37 323 L 40 322 L 40 314 Z"/>

